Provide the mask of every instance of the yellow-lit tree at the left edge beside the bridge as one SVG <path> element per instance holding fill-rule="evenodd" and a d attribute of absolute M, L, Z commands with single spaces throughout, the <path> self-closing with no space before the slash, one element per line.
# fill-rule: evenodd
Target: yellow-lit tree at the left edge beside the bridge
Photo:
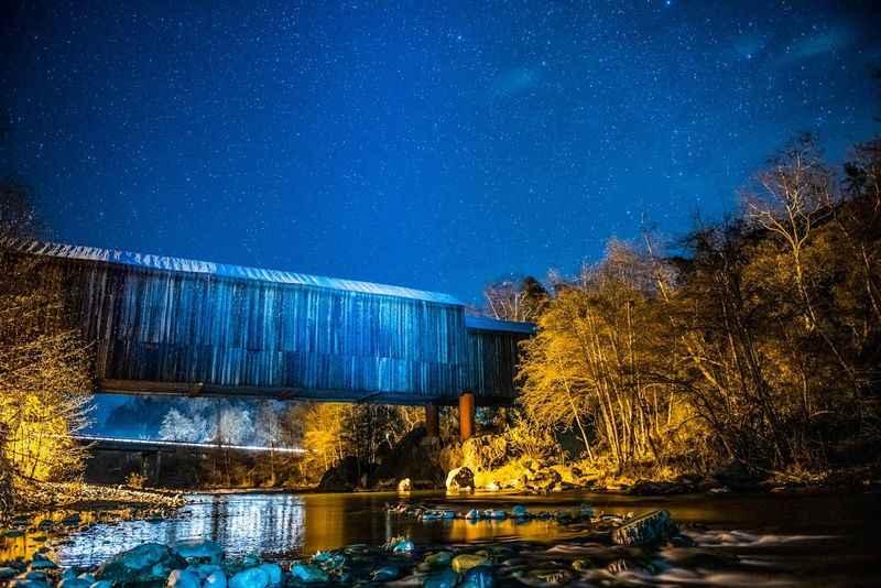
<path fill-rule="evenodd" d="M 32 195 L 15 181 L 0 185 L 0 478 L 67 479 L 84 451 L 72 435 L 86 424 L 89 353 L 70 324 L 65 285 L 42 260 L 19 255 L 11 240 L 33 236 Z M 9 494 L 9 490 L 3 491 Z"/>

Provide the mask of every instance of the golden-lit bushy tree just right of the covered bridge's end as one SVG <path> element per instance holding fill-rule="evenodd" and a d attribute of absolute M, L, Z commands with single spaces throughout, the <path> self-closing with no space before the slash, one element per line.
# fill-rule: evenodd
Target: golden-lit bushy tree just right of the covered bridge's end
<path fill-rule="evenodd" d="M 527 416 L 551 428 L 575 426 L 591 459 L 595 445 L 619 467 L 657 458 L 672 400 L 670 384 L 655 378 L 666 342 L 648 260 L 613 240 L 602 262 L 557 291 L 523 347 Z"/>

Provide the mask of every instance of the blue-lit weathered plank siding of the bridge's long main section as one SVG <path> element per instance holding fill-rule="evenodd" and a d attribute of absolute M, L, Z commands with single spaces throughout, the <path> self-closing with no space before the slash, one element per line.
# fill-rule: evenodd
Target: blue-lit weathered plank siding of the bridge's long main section
<path fill-rule="evenodd" d="M 99 378 L 431 398 L 461 390 L 461 307 L 70 264 Z"/>

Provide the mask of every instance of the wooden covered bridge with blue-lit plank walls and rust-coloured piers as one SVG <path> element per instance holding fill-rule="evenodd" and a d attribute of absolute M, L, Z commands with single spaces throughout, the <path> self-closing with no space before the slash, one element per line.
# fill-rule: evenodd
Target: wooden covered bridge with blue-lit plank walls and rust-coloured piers
<path fill-rule="evenodd" d="M 96 390 L 438 405 L 515 396 L 532 324 L 466 316 L 446 294 L 39 241 L 95 349 Z"/>

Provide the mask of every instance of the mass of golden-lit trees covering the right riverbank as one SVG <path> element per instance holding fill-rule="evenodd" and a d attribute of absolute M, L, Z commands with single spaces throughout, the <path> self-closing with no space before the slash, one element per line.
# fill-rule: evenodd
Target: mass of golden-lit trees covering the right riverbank
<path fill-rule="evenodd" d="M 558 281 L 524 344 L 522 405 L 624 469 L 765 471 L 872 459 L 881 439 L 881 143 L 834 173 L 813 141 L 742 213 L 663 254 L 611 241 Z"/>

